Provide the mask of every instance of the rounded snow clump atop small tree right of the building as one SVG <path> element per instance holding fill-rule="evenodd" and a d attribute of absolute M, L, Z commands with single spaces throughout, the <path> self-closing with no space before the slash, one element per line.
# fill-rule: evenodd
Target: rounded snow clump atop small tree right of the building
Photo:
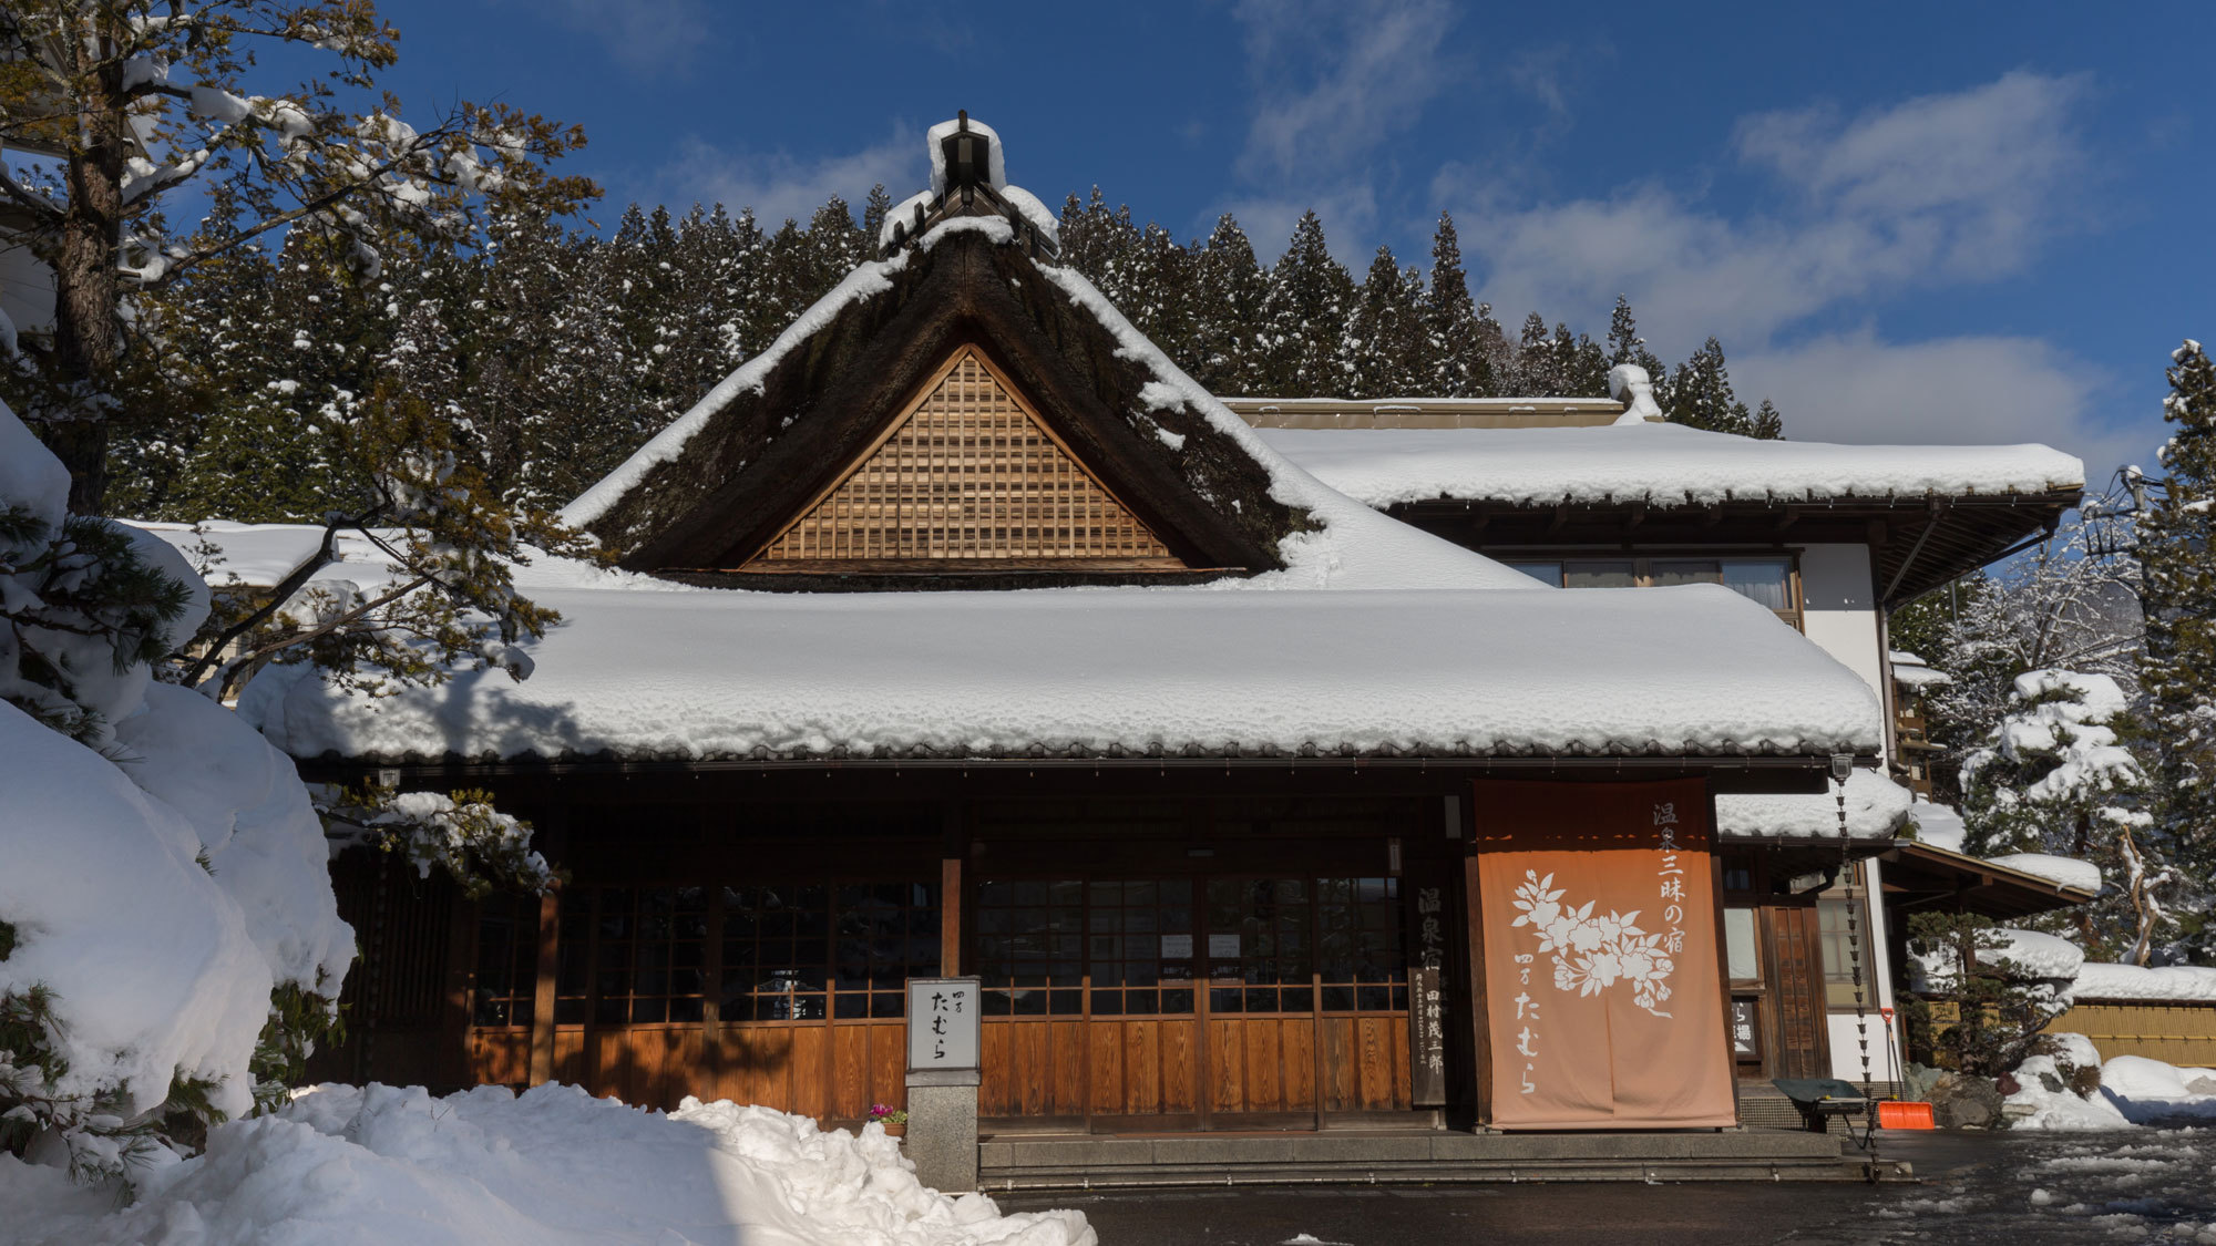
<path fill-rule="evenodd" d="M 2083 791 L 2116 791 L 2141 783 L 2138 760 L 2116 743 L 2107 721 L 2130 701 L 2105 674 L 2034 670 L 2017 676 L 2010 712 L 1994 729 L 1994 747 L 1972 749 L 1961 760 L 1968 787 L 1994 760 L 2030 763 L 2052 756 L 2054 769 L 2021 791 L 2003 787 L 2012 800 L 2059 803 Z"/>

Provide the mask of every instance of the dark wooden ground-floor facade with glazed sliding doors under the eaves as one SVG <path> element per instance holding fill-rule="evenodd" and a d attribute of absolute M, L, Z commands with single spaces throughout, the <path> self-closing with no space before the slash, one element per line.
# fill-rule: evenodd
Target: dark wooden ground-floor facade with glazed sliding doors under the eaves
<path fill-rule="evenodd" d="M 437 876 L 341 858 L 363 967 L 350 1040 L 317 1055 L 317 1075 L 558 1080 L 647 1106 L 729 1097 L 851 1124 L 904 1104 L 900 987 L 944 971 L 984 980 L 979 1117 L 995 1133 L 1485 1113 L 1465 774 L 494 783 L 534 816 L 567 885 L 472 905 Z M 1775 929 L 1813 956 L 1810 920 Z M 1409 982 L 1427 960 L 1447 984 L 1440 1106 L 1418 1106 L 1414 1086 Z M 1795 962 L 1773 964 L 1766 998 L 1791 998 Z M 1779 1018 L 1779 1049 L 1819 1060 L 1822 1027 Z"/>

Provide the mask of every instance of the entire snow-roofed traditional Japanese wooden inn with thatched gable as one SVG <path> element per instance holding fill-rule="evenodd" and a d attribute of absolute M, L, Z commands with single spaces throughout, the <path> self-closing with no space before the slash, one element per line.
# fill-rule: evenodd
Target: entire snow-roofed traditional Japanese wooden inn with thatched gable
<path fill-rule="evenodd" d="M 904 982 L 975 976 L 988 1137 L 1713 1131 L 1857 1038 L 1892 1078 L 1884 607 L 2074 459 L 1693 432 L 1635 370 L 1225 404 L 993 131 L 931 153 L 878 259 L 570 505 L 620 570 L 519 572 L 565 619 L 532 678 L 248 685 L 310 778 L 492 789 L 567 874 L 341 858 L 328 1073 L 851 1124 L 904 1102 Z"/>

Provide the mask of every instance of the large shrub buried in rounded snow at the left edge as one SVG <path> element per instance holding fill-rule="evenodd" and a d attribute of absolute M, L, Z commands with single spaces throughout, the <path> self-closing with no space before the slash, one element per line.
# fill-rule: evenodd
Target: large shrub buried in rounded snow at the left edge
<path fill-rule="evenodd" d="M 0 406 L 0 1148 L 120 1173 L 255 1106 L 352 931 L 290 760 L 153 683 L 206 585 L 66 486 Z"/>

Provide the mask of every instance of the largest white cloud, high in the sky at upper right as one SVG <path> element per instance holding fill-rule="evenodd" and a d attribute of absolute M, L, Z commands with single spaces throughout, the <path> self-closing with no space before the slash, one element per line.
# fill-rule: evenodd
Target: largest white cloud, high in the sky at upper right
<path fill-rule="evenodd" d="M 1791 204 L 1731 217 L 1660 184 L 1607 200 L 1498 208 L 1454 168 L 1463 246 L 1509 315 L 1604 324 L 1631 297 L 1662 355 L 1715 333 L 1757 346 L 1797 321 L 1939 282 L 2023 270 L 2068 224 L 2090 164 L 2074 129 L 2083 78 L 2008 73 L 1839 122 L 1822 109 L 1740 122 L 1737 157 Z M 1467 215 L 1465 215 L 1467 213 Z"/>

